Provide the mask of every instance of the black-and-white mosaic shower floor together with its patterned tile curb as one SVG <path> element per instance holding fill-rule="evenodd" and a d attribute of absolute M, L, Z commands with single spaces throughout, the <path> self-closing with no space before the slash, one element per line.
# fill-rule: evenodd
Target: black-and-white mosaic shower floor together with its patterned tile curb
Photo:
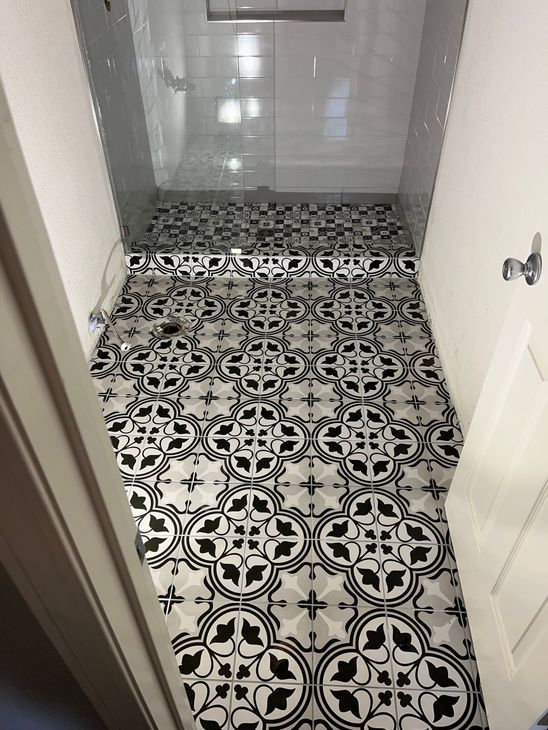
<path fill-rule="evenodd" d="M 127 255 L 132 273 L 252 278 L 413 277 L 397 208 L 160 202 Z"/>

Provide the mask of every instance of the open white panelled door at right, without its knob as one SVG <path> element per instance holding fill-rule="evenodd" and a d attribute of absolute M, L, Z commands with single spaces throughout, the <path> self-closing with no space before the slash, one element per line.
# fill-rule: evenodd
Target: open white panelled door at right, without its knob
<path fill-rule="evenodd" d="M 548 240 L 548 173 L 546 201 Z M 507 286 L 447 513 L 490 728 L 526 730 L 548 707 L 548 267 Z"/>

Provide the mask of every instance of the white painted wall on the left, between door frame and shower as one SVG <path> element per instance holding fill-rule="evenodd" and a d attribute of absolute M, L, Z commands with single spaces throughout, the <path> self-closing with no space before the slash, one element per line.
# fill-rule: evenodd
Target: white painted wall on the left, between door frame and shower
<path fill-rule="evenodd" d="M 125 263 L 70 3 L 1 6 L 0 77 L 89 356 L 88 314 L 110 308 Z"/>

